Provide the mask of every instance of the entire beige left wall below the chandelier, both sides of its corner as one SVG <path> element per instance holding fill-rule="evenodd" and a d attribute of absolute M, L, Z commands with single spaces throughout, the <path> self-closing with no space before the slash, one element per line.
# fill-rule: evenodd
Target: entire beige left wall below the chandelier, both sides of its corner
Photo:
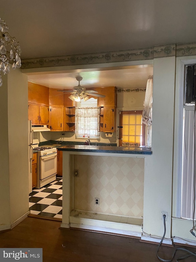
<path fill-rule="evenodd" d="M 0 88 L 0 230 L 28 212 L 28 86 L 21 69 L 10 70 Z"/>

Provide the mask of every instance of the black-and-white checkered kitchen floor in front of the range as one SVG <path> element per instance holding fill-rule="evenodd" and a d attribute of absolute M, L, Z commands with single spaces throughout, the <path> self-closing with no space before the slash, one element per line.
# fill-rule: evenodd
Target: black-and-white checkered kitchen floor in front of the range
<path fill-rule="evenodd" d="M 29 194 L 31 214 L 62 219 L 62 178 Z"/>

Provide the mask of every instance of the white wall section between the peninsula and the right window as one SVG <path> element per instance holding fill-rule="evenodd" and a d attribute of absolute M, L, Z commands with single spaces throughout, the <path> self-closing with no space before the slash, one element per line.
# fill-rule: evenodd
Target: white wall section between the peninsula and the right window
<path fill-rule="evenodd" d="M 166 236 L 171 233 L 171 194 L 175 57 L 154 59 L 152 152 L 145 159 L 143 229 L 163 235 L 161 211 L 168 212 Z"/>

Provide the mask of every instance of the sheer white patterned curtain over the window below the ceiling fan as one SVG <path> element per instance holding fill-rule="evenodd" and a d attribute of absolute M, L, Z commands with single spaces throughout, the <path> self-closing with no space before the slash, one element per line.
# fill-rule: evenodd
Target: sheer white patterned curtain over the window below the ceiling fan
<path fill-rule="evenodd" d="M 76 137 L 98 138 L 99 132 L 99 107 L 75 108 L 75 134 Z"/>

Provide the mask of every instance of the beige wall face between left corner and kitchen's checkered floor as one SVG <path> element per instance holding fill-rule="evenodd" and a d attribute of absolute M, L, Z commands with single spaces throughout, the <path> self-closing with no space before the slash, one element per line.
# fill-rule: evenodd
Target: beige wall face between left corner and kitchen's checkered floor
<path fill-rule="evenodd" d="M 8 74 L 11 224 L 28 212 L 28 86 L 21 70 Z"/>

